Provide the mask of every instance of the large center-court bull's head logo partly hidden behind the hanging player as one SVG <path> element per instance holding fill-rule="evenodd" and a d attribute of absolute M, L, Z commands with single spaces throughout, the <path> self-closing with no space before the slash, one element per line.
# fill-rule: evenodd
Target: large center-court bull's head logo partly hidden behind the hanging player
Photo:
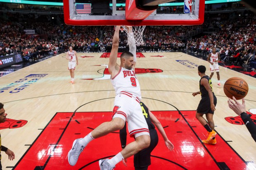
<path fill-rule="evenodd" d="M 83 78 L 82 80 L 107 80 L 110 79 L 110 73 L 108 65 L 96 65 L 96 66 L 104 66 L 106 67 L 103 71 L 103 76 L 100 78 Z M 100 70 L 99 70 L 100 71 Z M 99 72 L 98 71 L 98 72 Z M 146 73 L 162 73 L 161 69 L 143 69 L 143 68 L 135 68 L 135 74 L 146 74 Z"/>

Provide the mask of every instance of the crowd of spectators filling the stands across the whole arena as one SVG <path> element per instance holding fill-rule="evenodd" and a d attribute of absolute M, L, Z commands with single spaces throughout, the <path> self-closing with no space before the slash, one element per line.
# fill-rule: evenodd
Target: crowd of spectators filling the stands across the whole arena
<path fill-rule="evenodd" d="M 17 14 L 8 14 L 15 21 Z M 228 14 L 225 14 L 228 15 Z M 207 15 L 206 15 L 207 17 Z M 30 18 L 26 22 L 0 23 L 0 56 L 21 53 L 24 60 L 31 62 L 40 57 L 57 55 L 68 51 L 72 46 L 77 52 L 110 52 L 113 26 L 73 26 L 52 22 L 51 16 L 24 14 Z M 35 20 L 33 18 L 37 18 Z M 38 19 L 39 18 L 39 19 Z M 214 18 L 214 17 L 212 17 Z M 212 47 L 216 47 L 223 62 L 256 69 L 256 16 L 247 11 L 236 21 L 228 17 L 224 20 L 207 20 L 203 25 L 193 26 L 147 26 L 143 32 L 145 44 L 138 46 L 138 51 L 188 51 L 196 55 L 208 56 Z M 43 21 L 43 24 L 42 22 Z M 218 32 L 199 34 L 182 39 L 194 30 L 215 27 Z M 26 34 L 24 30 L 36 30 L 37 34 Z M 38 33 L 46 32 L 46 33 Z M 120 44 L 127 46 L 126 36 Z M 250 63 L 250 64 L 249 64 Z"/>

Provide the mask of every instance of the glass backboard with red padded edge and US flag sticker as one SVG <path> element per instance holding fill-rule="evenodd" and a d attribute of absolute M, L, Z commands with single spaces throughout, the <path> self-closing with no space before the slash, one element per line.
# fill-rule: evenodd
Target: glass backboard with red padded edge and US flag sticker
<path fill-rule="evenodd" d="M 130 26 L 200 25 L 204 22 L 204 0 L 167 0 L 168 3 L 156 4 L 159 1 L 164 2 L 126 0 L 126 4 L 121 4 L 118 0 L 63 0 L 64 21 L 68 25 Z M 139 2 L 148 4 L 137 4 Z"/>

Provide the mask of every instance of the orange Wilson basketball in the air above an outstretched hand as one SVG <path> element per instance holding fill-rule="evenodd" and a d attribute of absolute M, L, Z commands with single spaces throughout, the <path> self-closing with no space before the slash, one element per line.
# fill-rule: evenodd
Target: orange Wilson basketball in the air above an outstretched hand
<path fill-rule="evenodd" d="M 249 87 L 244 79 L 232 77 L 225 82 L 223 90 L 230 99 L 234 96 L 235 99 L 240 100 L 247 95 Z"/>

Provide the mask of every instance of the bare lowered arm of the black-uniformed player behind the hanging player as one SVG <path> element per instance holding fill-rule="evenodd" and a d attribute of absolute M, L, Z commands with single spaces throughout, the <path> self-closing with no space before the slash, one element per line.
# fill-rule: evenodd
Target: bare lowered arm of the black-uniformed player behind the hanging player
<path fill-rule="evenodd" d="M 161 125 L 161 123 L 159 122 L 159 120 L 154 116 L 154 114 L 150 110 L 149 110 L 149 117 L 150 117 L 151 121 L 154 123 L 154 125 L 156 126 L 156 128 L 158 129 L 158 131 L 161 133 L 161 136 L 163 136 L 166 147 L 170 151 L 172 151 L 174 149 L 172 142 L 166 136 L 164 128 Z"/>

